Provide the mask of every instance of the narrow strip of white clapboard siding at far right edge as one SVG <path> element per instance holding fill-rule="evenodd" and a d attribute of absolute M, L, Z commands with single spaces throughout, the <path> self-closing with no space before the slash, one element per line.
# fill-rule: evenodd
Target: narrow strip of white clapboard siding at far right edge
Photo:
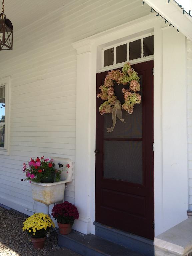
<path fill-rule="evenodd" d="M 187 41 L 187 121 L 188 121 L 188 168 L 189 210 L 192 211 L 192 42 Z"/>

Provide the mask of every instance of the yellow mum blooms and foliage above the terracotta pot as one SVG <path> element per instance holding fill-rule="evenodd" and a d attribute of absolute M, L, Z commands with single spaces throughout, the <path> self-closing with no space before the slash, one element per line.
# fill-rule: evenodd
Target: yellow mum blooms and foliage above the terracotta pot
<path fill-rule="evenodd" d="M 32 238 L 43 238 L 51 227 L 55 227 L 48 214 L 35 213 L 23 222 L 23 231 L 27 231 Z"/>

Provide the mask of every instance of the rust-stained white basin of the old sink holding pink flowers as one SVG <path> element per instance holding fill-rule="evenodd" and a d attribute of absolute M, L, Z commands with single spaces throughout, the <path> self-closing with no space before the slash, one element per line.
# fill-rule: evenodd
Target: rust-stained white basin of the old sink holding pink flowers
<path fill-rule="evenodd" d="M 66 181 L 53 183 L 31 182 L 33 200 L 46 205 L 63 201 Z"/>

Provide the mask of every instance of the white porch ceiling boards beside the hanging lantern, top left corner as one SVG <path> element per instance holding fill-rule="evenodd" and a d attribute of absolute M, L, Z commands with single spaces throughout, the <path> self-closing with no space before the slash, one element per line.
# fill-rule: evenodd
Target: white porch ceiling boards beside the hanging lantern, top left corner
<path fill-rule="evenodd" d="M 4 0 L 4 13 L 13 24 L 14 31 L 28 26 L 41 17 L 65 8 L 75 0 Z M 0 0 L 0 12 L 2 8 Z M 51 22 L 51 20 L 50 20 Z"/>

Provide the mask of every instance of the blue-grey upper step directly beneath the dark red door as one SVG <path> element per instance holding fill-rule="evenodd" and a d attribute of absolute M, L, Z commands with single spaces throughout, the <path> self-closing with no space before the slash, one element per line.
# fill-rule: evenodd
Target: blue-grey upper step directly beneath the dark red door
<path fill-rule="evenodd" d="M 154 256 L 154 241 L 94 222 L 95 235 L 146 256 Z"/>

